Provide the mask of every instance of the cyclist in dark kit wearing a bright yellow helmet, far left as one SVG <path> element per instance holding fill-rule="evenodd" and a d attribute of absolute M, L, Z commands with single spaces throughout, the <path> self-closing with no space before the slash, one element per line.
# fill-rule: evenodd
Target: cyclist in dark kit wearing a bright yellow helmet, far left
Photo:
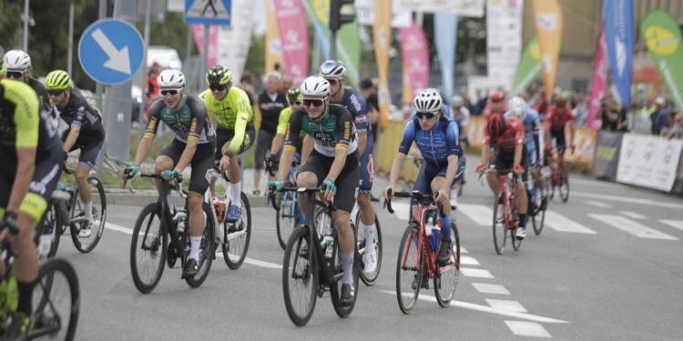
<path fill-rule="evenodd" d="M 105 127 L 97 108 L 89 105 L 76 87 L 71 86 L 71 78 L 66 71 L 55 70 L 47 74 L 47 93 L 59 110 L 60 117 L 69 127 L 62 135 L 63 148 L 66 153 L 80 149 L 76 166 L 76 184 L 78 194 L 83 201 L 85 222 L 78 232 L 79 237 L 93 234 L 94 221 L 93 200 L 87 175 L 97 164 L 102 144 L 105 142 Z"/>

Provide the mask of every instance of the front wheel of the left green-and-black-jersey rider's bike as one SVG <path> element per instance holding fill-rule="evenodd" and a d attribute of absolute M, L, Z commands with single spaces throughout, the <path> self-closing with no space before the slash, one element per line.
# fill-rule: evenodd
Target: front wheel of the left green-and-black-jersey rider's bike
<path fill-rule="evenodd" d="M 154 290 L 164 272 L 168 253 L 168 235 L 162 226 L 161 206 L 145 206 L 133 228 L 130 239 L 130 272 L 133 283 L 143 294 Z"/>

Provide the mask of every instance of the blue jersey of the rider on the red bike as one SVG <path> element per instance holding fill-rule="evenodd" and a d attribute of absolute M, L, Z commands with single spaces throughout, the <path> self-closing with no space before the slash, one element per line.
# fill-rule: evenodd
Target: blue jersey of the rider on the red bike
<path fill-rule="evenodd" d="M 447 118 L 440 119 L 427 131 L 420 127 L 417 118 L 413 118 L 403 129 L 399 153 L 407 155 L 413 142 L 420 149 L 427 164 L 448 165 L 449 155 L 463 155 L 458 125 Z"/>

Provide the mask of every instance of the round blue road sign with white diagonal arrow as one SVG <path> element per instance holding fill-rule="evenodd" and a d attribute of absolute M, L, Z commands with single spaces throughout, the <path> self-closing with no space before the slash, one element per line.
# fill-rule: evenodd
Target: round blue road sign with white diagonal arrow
<path fill-rule="evenodd" d="M 126 83 L 145 57 L 145 42 L 134 25 L 102 19 L 87 26 L 78 42 L 78 60 L 90 78 L 106 85 Z"/>

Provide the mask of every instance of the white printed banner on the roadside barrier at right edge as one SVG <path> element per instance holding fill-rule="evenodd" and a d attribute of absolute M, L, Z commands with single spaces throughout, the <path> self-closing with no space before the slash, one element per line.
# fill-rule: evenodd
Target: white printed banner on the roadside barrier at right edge
<path fill-rule="evenodd" d="M 619 152 L 617 182 L 669 192 L 683 140 L 655 135 L 625 134 Z"/>

